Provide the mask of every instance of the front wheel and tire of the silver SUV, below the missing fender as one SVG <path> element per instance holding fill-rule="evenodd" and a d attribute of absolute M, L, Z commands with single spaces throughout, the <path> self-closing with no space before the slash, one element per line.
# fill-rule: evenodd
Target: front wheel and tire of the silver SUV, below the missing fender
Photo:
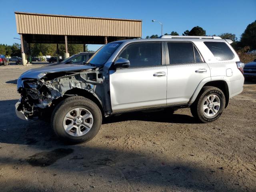
<path fill-rule="evenodd" d="M 82 111 L 80 112 L 81 116 L 79 119 L 77 119 L 78 114 L 75 114 L 74 117 L 72 116 L 72 118 L 74 118 L 74 120 L 76 121 L 72 120 L 72 123 L 70 124 L 70 120 L 67 119 L 66 116 L 68 116 L 68 114 L 74 114 L 74 112 L 76 112 L 74 109 L 78 108 L 82 109 Z M 84 119 L 81 119 L 81 117 L 84 117 L 82 116 L 82 112 L 86 112 L 84 116 L 89 114 L 90 116 L 92 116 L 92 118 L 85 119 L 85 117 Z M 81 124 L 78 123 L 78 120 L 81 121 Z M 86 122 L 87 120 L 89 120 L 90 122 Z M 68 125 L 66 125 L 67 122 Z M 95 104 L 91 100 L 82 96 L 72 96 L 64 99 L 56 106 L 52 113 L 51 124 L 54 133 L 65 142 L 72 144 L 88 142 L 89 140 L 94 138 L 94 136 L 96 136 L 96 134 L 100 130 L 100 126 L 102 124 L 102 113 L 97 104 Z M 76 124 L 79 124 L 80 127 L 77 128 Z M 91 128 L 85 128 L 85 124 L 90 124 Z M 70 131 L 66 131 L 64 125 L 70 127 L 72 127 L 73 125 L 74 126 L 72 129 L 70 129 Z M 81 136 L 77 133 L 80 133 Z"/>

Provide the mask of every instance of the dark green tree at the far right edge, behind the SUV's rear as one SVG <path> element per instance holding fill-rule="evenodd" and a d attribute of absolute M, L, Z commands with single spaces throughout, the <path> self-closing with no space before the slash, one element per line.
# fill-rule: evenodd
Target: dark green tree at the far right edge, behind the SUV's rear
<path fill-rule="evenodd" d="M 240 46 L 250 46 L 252 50 L 256 49 L 256 20 L 249 24 L 242 33 Z"/>

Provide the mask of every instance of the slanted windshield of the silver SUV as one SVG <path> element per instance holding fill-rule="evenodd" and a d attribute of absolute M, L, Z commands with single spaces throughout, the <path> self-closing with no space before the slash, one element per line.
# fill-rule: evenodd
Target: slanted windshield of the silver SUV
<path fill-rule="evenodd" d="M 102 66 L 120 46 L 120 44 L 120 42 L 115 42 L 104 45 L 102 48 L 100 48 L 100 50 L 98 50 L 98 52 L 94 54 L 94 56 L 92 56 L 90 60 L 88 60 L 87 63 L 97 67 Z"/>

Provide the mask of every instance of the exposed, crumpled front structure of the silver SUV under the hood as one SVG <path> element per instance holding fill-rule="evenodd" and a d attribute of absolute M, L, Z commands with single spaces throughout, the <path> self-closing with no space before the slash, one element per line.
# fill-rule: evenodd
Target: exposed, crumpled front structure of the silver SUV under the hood
<path fill-rule="evenodd" d="M 76 95 L 69 94 L 74 88 L 86 90 L 103 105 L 104 88 L 97 86 L 103 86 L 104 80 L 98 68 L 48 73 L 40 79 L 23 78 L 22 86 L 18 87 L 21 98 L 17 110 L 28 118 L 40 116 L 44 109 L 50 108 L 59 98 Z"/>

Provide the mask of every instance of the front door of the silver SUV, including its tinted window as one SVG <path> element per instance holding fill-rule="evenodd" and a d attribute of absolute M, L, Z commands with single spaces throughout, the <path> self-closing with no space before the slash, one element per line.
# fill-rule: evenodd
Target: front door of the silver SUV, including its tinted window
<path fill-rule="evenodd" d="M 118 58 L 128 59 L 130 68 L 110 70 L 113 112 L 166 106 L 167 68 L 163 54 L 162 42 L 136 42 L 121 51 Z"/>

